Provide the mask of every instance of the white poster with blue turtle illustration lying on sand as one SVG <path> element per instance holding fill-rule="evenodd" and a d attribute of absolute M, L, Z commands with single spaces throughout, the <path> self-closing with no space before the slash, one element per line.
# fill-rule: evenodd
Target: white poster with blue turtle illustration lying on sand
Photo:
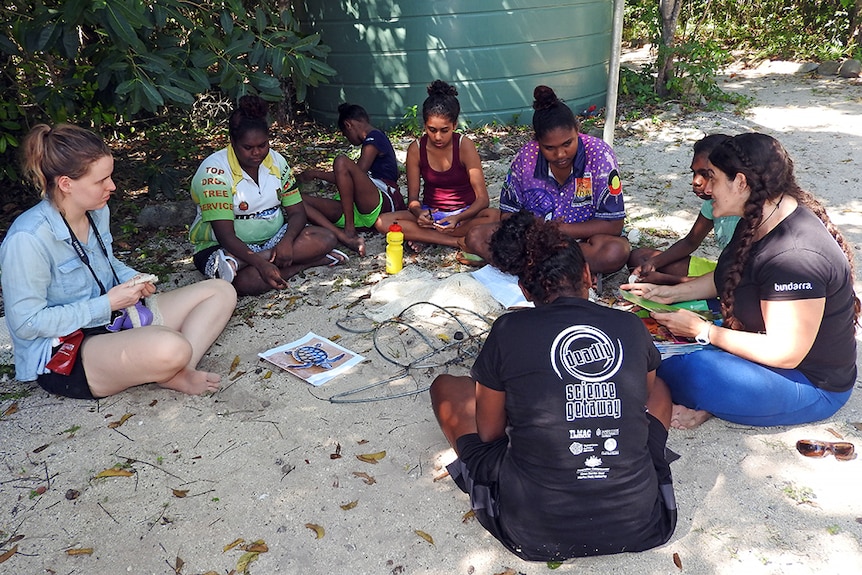
<path fill-rule="evenodd" d="M 312 332 L 258 355 L 315 386 L 323 385 L 365 359 Z"/>

